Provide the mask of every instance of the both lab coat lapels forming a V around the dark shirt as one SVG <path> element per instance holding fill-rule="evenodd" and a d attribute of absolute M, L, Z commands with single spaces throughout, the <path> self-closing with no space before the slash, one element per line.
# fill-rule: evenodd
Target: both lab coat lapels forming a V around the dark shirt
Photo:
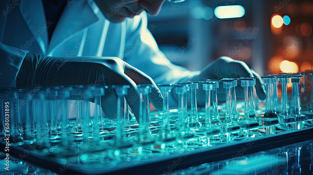
<path fill-rule="evenodd" d="M 57 47 L 74 37 L 77 32 L 91 27 L 99 20 L 99 8 L 92 0 L 68 0 L 48 45 L 48 32 L 45 27 L 49 27 L 49 22 L 45 20 L 42 2 L 22 0 L 20 11 L 33 36 L 36 37 L 42 53 L 46 55 L 52 54 Z M 42 30 L 42 34 L 39 35 L 38 30 Z"/>

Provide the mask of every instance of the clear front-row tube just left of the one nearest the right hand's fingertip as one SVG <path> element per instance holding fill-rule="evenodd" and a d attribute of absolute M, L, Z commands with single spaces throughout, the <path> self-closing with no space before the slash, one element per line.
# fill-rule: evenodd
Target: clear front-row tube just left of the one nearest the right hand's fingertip
<path fill-rule="evenodd" d="M 226 89 L 226 114 L 225 114 L 225 120 L 221 124 L 222 130 L 225 133 L 229 133 L 233 130 L 240 129 L 240 126 L 233 120 L 232 118 L 232 110 L 233 108 L 233 95 L 232 88 L 235 87 L 235 83 L 237 84 L 237 81 L 235 79 L 222 79 L 223 82 L 223 88 Z M 228 141 L 229 141 L 229 134 L 228 134 Z"/>

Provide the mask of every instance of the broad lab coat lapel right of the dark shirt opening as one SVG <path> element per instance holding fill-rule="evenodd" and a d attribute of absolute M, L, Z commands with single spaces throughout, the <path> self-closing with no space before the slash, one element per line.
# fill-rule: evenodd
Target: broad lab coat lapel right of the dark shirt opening
<path fill-rule="evenodd" d="M 91 27 L 99 19 L 86 0 L 68 1 L 52 34 L 48 53 L 74 37 L 77 32 Z"/>

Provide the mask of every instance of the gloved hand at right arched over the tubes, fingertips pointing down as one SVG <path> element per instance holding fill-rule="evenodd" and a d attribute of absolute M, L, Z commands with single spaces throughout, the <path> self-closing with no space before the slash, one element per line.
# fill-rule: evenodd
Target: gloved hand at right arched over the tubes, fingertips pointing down
<path fill-rule="evenodd" d="M 192 78 L 192 81 L 206 81 L 207 79 L 222 79 L 222 78 L 241 78 L 241 77 L 258 77 L 256 79 L 256 93 L 259 99 L 265 99 L 265 88 L 264 83 L 260 76 L 251 70 L 246 63 L 238 60 L 234 60 L 229 57 L 220 57 L 210 63 L 208 66 L 203 68 L 201 74 Z M 200 87 L 202 88 L 202 86 Z M 243 97 L 243 88 L 240 86 L 240 81 L 236 86 L 236 97 Z M 198 90 L 197 96 L 205 97 L 205 92 L 202 89 Z M 219 84 L 217 90 L 218 102 L 225 102 L 225 89 L 223 88 L 223 83 Z M 205 103 L 205 98 L 197 98 L 199 104 Z"/>

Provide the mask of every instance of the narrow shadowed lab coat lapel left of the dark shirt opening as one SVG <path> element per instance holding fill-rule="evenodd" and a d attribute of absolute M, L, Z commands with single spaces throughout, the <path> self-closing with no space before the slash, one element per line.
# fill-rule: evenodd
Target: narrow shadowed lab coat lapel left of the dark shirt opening
<path fill-rule="evenodd" d="M 36 39 L 42 53 L 46 54 L 48 44 L 47 27 L 49 27 L 49 23 L 46 22 L 42 2 L 22 0 L 19 8 L 30 32 L 33 34 L 33 37 L 29 39 Z"/>

